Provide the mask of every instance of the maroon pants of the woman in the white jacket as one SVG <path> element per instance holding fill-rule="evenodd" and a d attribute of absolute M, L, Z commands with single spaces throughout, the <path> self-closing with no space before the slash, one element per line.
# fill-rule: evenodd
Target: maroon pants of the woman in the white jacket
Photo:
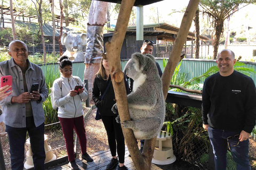
<path fill-rule="evenodd" d="M 74 129 L 76 131 L 82 154 L 86 153 L 86 134 L 84 129 L 84 117 L 61 118 L 59 117 L 63 136 L 66 142 L 69 162 L 75 160 L 74 156 Z"/>

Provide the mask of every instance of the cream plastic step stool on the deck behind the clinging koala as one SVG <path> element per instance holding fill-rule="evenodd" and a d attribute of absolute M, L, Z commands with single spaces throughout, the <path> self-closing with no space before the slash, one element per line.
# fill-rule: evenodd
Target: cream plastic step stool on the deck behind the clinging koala
<path fill-rule="evenodd" d="M 171 133 L 160 131 L 157 134 L 152 163 L 157 165 L 167 165 L 174 163 L 175 160 L 176 157 L 173 155 Z"/>

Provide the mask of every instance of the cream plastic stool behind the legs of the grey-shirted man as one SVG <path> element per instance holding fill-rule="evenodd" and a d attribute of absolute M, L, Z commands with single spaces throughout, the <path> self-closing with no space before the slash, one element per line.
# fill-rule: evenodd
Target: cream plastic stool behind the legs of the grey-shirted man
<path fill-rule="evenodd" d="M 44 160 L 45 163 L 56 159 L 56 155 L 53 154 L 52 148 L 51 148 L 50 145 L 48 145 L 47 141 L 48 141 L 48 137 L 45 134 L 44 135 L 44 150 L 45 150 L 45 156 L 46 156 L 46 158 Z M 26 145 L 28 146 L 28 151 L 26 152 L 27 160 L 24 164 L 24 167 L 26 169 L 28 169 L 28 168 L 34 167 L 33 157 L 32 157 L 32 150 L 31 150 L 31 146 L 30 146 L 30 138 L 28 138 L 26 140 Z"/>

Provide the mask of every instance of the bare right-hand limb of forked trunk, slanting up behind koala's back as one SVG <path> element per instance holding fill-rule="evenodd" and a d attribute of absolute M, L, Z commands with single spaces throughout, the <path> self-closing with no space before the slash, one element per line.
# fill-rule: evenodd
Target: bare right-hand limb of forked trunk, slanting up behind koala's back
<path fill-rule="evenodd" d="M 164 93 L 165 99 L 168 94 L 172 75 L 174 73 L 174 70 L 175 70 L 177 64 L 180 61 L 180 54 L 181 54 L 183 45 L 186 42 L 189 28 L 191 27 L 191 23 L 193 21 L 198 4 L 199 4 L 199 0 L 190 0 L 189 1 L 187 10 L 185 11 L 185 14 L 183 15 L 183 19 L 180 24 L 180 30 L 178 32 L 177 38 L 176 38 L 174 46 L 172 48 L 172 51 L 171 51 L 171 54 L 169 57 L 169 61 L 167 62 L 167 65 L 164 69 L 164 72 L 162 75 L 162 83 L 163 83 L 163 93 Z"/>

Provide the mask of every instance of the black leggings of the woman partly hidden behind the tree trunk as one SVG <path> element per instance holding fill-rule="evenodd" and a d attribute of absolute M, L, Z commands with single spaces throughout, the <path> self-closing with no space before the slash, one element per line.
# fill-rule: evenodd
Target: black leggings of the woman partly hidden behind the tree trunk
<path fill-rule="evenodd" d="M 117 114 L 118 115 L 118 114 Z M 125 145 L 121 124 L 116 123 L 116 116 L 101 116 L 108 135 L 108 145 L 112 156 L 117 155 L 119 163 L 124 163 Z"/>

